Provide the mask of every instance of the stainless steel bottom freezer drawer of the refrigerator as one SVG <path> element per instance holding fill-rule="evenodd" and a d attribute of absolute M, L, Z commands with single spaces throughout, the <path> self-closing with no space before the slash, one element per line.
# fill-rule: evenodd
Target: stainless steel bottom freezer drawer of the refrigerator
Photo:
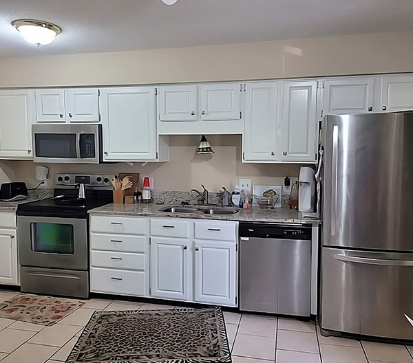
<path fill-rule="evenodd" d="M 413 340 L 413 254 L 322 248 L 321 328 Z"/>

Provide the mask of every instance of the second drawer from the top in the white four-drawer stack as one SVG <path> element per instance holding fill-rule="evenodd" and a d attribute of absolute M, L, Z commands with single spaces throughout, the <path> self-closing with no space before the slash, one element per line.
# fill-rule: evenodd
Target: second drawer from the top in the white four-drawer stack
<path fill-rule="evenodd" d="M 91 233 L 90 248 L 100 251 L 145 252 L 149 248 L 149 237 Z"/>

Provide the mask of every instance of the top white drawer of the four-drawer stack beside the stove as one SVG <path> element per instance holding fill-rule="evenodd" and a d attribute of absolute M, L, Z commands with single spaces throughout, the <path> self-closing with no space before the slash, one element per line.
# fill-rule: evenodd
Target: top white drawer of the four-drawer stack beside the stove
<path fill-rule="evenodd" d="M 147 218 L 92 216 L 92 232 L 120 233 L 120 234 L 147 234 Z"/>

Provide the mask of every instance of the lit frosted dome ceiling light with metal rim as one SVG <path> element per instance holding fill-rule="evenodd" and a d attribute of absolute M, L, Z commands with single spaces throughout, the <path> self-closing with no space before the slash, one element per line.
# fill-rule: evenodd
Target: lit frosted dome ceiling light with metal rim
<path fill-rule="evenodd" d="M 25 41 L 38 47 L 52 43 L 56 35 L 62 32 L 61 28 L 53 23 L 34 19 L 17 19 L 12 21 L 12 25 L 19 30 Z"/>

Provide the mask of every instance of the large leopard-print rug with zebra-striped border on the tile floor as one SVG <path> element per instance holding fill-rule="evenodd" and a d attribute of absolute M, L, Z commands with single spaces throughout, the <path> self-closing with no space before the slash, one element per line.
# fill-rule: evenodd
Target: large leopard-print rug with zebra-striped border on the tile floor
<path fill-rule="evenodd" d="M 231 363 L 222 311 L 96 311 L 66 363 Z"/>

